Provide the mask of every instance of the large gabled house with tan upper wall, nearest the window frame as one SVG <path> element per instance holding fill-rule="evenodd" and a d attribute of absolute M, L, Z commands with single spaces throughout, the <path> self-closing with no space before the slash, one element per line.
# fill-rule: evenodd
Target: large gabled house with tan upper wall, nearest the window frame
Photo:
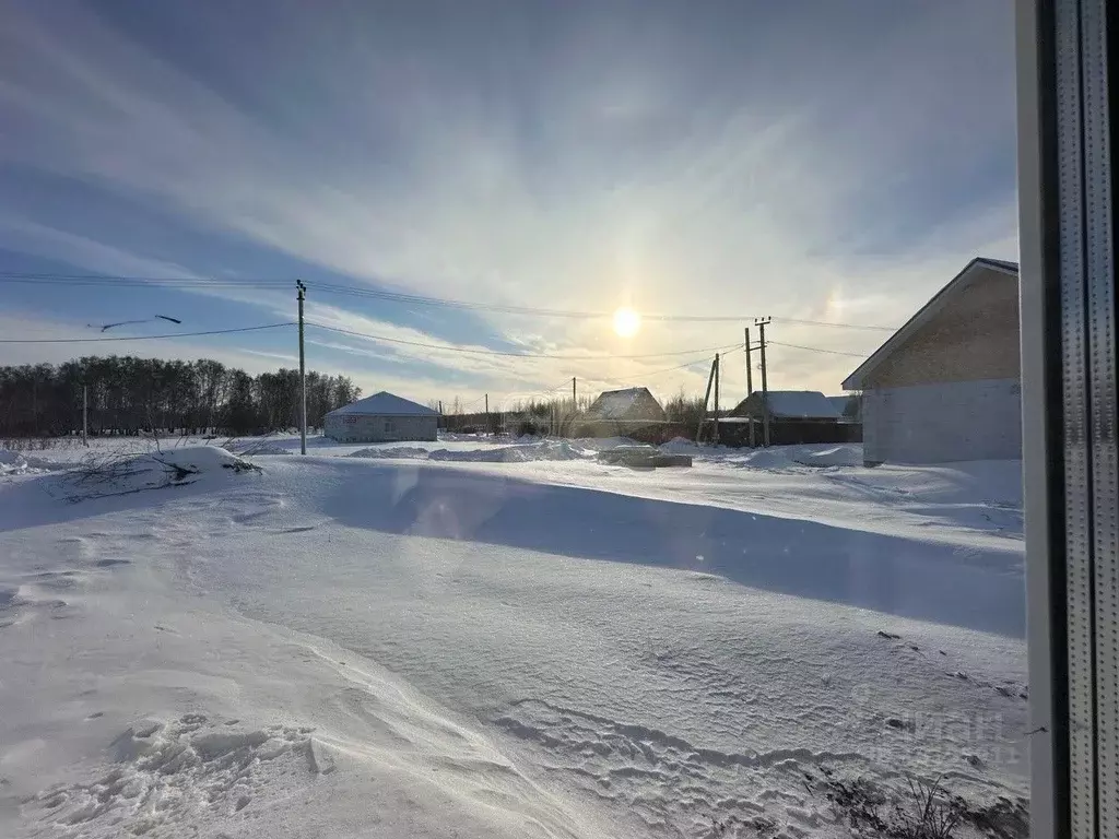
<path fill-rule="evenodd" d="M 843 387 L 867 464 L 1021 458 L 1018 266 L 969 262 Z"/>

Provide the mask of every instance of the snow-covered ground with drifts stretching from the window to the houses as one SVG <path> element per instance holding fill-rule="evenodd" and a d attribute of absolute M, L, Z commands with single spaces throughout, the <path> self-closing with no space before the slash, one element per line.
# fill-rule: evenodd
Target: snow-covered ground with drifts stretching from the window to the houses
<path fill-rule="evenodd" d="M 0 452 L 0 836 L 800 839 L 847 833 L 829 777 L 1025 794 L 1017 463 L 205 442 Z"/>

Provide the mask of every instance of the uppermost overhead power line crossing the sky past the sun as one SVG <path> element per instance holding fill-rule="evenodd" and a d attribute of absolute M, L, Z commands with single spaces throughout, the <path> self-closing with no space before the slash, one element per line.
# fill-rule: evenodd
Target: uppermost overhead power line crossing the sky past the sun
<path fill-rule="evenodd" d="M 59 285 L 109 285 L 116 287 L 135 287 L 151 285 L 156 287 L 181 287 L 184 290 L 205 290 L 224 287 L 246 287 L 246 289 L 286 289 L 292 279 L 263 279 L 263 277 L 241 277 L 241 279 L 218 279 L 218 277 L 152 277 L 152 276 L 114 276 L 95 274 L 35 274 L 27 272 L 0 272 L 0 282 L 18 283 L 48 283 Z M 600 320 L 613 317 L 613 312 L 608 311 L 579 311 L 566 309 L 545 309 L 539 307 L 513 305 L 504 303 L 482 303 L 469 300 L 451 300 L 446 298 L 434 298 L 424 294 L 407 294 L 404 292 L 387 291 L 383 289 L 363 289 L 354 285 L 340 283 L 311 283 L 310 286 L 317 293 L 344 294 L 369 300 L 383 300 L 386 302 L 401 303 L 405 305 L 432 305 L 444 309 L 457 309 L 462 311 L 493 312 L 498 314 L 517 314 L 542 318 L 567 318 L 575 320 Z M 730 323 L 749 321 L 753 318 L 746 314 L 666 314 L 666 313 L 641 313 L 642 320 L 652 322 L 675 322 L 675 323 Z M 883 332 L 895 331 L 893 327 L 878 327 L 862 323 L 839 323 L 834 321 L 806 320 L 800 318 L 774 318 L 784 323 L 796 323 L 800 326 L 831 327 L 841 329 L 866 329 Z"/>

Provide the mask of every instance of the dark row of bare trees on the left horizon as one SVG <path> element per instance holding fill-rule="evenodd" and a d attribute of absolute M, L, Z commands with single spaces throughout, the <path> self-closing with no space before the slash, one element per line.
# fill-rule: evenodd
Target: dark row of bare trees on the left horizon
<path fill-rule="evenodd" d="M 90 356 L 0 367 L 0 434 L 79 434 L 83 387 L 92 435 L 263 434 L 299 425 L 299 370 L 250 376 L 208 358 Z M 308 425 L 318 426 L 327 412 L 360 393 L 346 376 L 308 373 Z"/>

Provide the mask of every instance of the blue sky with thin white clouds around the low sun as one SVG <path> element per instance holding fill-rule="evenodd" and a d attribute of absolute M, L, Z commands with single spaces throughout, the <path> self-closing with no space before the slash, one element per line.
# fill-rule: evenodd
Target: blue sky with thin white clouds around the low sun
<path fill-rule="evenodd" d="M 0 282 L 0 334 L 285 321 L 293 293 L 252 281 L 301 277 L 314 322 L 433 345 L 309 330 L 309 365 L 365 393 L 698 390 L 704 364 L 664 371 L 688 355 L 618 356 L 731 345 L 750 321 L 647 319 L 622 339 L 609 319 L 316 284 L 900 324 L 972 256 L 1016 258 L 1012 17 L 1010 0 L 7 2 L 0 274 L 228 284 Z M 885 334 L 778 320 L 770 337 L 863 353 Z M 0 364 L 109 351 L 257 371 L 293 365 L 295 340 L 6 343 Z M 834 393 L 857 364 L 774 346 L 770 381 Z M 741 396 L 741 355 L 724 383 Z"/>

